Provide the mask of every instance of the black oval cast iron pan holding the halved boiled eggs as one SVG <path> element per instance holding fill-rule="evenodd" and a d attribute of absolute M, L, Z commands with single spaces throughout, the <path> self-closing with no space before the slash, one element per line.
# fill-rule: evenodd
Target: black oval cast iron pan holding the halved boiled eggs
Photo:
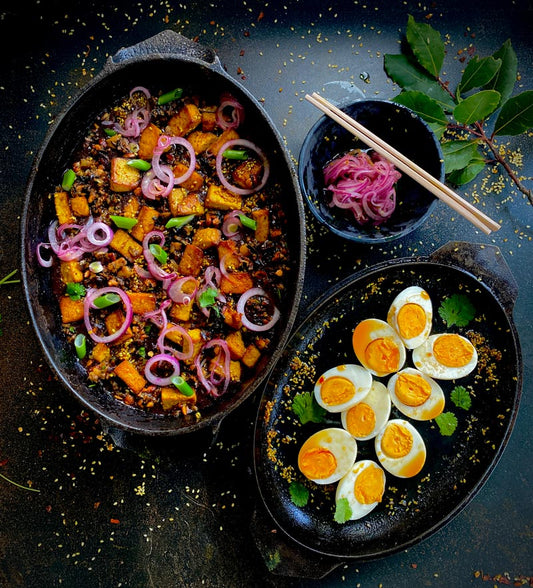
<path fill-rule="evenodd" d="M 518 411 L 522 360 L 511 316 L 515 284 L 497 248 L 452 243 L 429 258 L 395 260 L 355 274 L 317 302 L 270 375 L 256 422 L 254 463 L 259 492 L 285 536 L 334 559 L 371 560 L 431 535 L 464 508 L 495 467 Z M 386 320 L 395 295 L 411 285 L 430 294 L 432 332 L 471 337 L 479 363 L 465 378 L 439 381 L 446 396 L 444 410 L 458 420 L 452 435 L 443 436 L 433 421 L 411 421 L 427 447 L 422 472 L 410 480 L 386 474 L 385 494 L 378 507 L 365 518 L 339 524 L 334 521 L 335 485 L 324 489 L 307 481 L 298 471 L 297 454 L 318 429 L 342 426 L 340 417 L 329 415 L 322 423 L 301 424 L 292 401 L 296 394 L 312 393 L 316 379 L 327 369 L 358 363 L 351 344 L 355 325 L 370 317 Z M 474 304 L 475 318 L 465 327 L 448 327 L 438 309 L 444 299 L 457 293 Z M 412 365 L 410 352 L 407 357 L 406 365 Z M 386 383 L 387 378 L 380 380 Z M 456 385 L 470 392 L 470 409 L 451 402 Z M 402 415 L 393 408 L 394 417 Z M 376 460 L 373 440 L 358 442 L 357 459 Z M 305 506 L 296 506 L 291 499 L 295 482 L 309 490 Z"/>

